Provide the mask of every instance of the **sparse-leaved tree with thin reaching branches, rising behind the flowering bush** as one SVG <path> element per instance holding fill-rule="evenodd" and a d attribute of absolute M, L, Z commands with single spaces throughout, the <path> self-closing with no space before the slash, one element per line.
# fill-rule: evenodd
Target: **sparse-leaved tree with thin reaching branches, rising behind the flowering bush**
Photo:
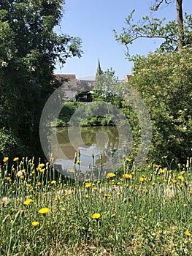
<path fill-rule="evenodd" d="M 171 4 L 174 0 L 155 0 L 155 3 L 151 7 L 151 10 L 158 10 L 158 8 L 164 2 Z M 123 27 L 120 35 L 115 32 L 115 39 L 123 45 L 126 45 L 127 55 L 128 45 L 131 45 L 134 40 L 139 38 L 161 38 L 164 42 L 160 45 L 161 52 L 172 52 L 182 50 L 184 46 L 191 45 L 192 43 L 192 26 L 191 26 L 191 15 L 185 14 L 183 19 L 183 8 L 182 0 L 176 1 L 177 7 L 177 21 L 172 20 L 164 25 L 164 20 L 158 18 L 149 18 L 148 16 L 143 17 L 136 24 L 133 24 L 133 14 L 126 18 L 126 27 Z"/>

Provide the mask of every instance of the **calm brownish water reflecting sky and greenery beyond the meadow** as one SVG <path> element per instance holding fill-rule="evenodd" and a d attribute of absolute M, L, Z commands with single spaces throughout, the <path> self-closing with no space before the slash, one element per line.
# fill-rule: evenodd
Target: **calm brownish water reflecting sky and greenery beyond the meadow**
<path fill-rule="evenodd" d="M 58 146 L 55 143 L 53 147 L 54 164 L 60 166 L 59 171 L 65 175 L 72 170 L 80 173 L 114 170 L 131 148 L 128 136 L 120 136 L 116 127 L 57 128 Z"/>

